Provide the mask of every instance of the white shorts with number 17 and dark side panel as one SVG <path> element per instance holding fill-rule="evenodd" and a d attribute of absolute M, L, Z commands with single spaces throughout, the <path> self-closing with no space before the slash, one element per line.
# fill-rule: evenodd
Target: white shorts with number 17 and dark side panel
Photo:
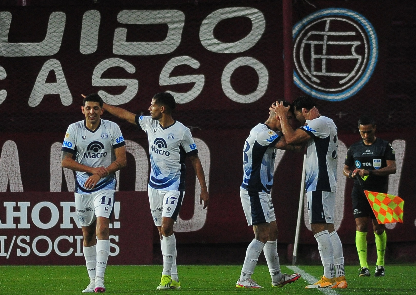
<path fill-rule="evenodd" d="M 184 191 L 161 191 L 148 187 L 148 194 L 155 226 L 162 225 L 162 217 L 170 217 L 176 221 L 185 195 Z"/>

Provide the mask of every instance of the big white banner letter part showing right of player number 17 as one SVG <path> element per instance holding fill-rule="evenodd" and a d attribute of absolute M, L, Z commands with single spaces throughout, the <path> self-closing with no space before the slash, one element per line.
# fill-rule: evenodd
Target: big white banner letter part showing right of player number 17
<path fill-rule="evenodd" d="M 210 172 L 210 164 L 211 164 L 211 157 L 210 151 L 207 144 L 202 140 L 195 138 L 196 146 L 198 146 L 198 155 L 199 159 L 201 159 L 201 164 L 205 172 L 205 179 L 207 184 L 207 189 L 209 192 L 209 172 Z M 173 230 L 176 232 L 189 232 L 189 231 L 198 231 L 199 229 L 203 228 L 206 219 L 207 219 L 207 211 L 208 207 L 203 209 L 203 205 L 199 205 L 199 197 L 201 195 L 201 185 L 199 184 L 198 178 L 195 177 L 195 199 L 194 199 L 194 207 L 193 207 L 193 216 L 189 220 L 181 219 L 180 213 L 178 215 L 177 223 L 173 226 Z"/>

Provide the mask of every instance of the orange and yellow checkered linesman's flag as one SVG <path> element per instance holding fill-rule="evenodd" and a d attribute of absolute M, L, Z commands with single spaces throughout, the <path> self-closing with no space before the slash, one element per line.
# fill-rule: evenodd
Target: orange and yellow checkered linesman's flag
<path fill-rule="evenodd" d="M 364 191 L 364 193 L 379 224 L 403 223 L 404 201 L 400 197 L 374 191 Z"/>

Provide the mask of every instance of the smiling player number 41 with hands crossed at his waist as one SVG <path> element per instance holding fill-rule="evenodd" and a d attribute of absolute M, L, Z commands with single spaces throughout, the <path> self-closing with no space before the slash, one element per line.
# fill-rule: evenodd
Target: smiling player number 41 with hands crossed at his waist
<path fill-rule="evenodd" d="M 115 172 L 126 166 L 126 144 L 116 123 L 100 119 L 104 109 L 98 94 L 84 97 L 81 110 L 85 120 L 69 125 L 65 134 L 62 167 L 77 171 L 75 209 L 90 278 L 82 293 L 101 293 L 105 291 L 104 272 L 110 253 Z"/>

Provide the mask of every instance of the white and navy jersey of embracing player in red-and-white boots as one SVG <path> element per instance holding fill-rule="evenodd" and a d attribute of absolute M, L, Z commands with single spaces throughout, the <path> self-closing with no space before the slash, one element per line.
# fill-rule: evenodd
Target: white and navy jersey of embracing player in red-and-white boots
<path fill-rule="evenodd" d="M 250 131 L 243 149 L 244 176 L 241 188 L 270 193 L 275 167 L 275 145 L 281 134 L 266 124 L 257 124 Z"/>

